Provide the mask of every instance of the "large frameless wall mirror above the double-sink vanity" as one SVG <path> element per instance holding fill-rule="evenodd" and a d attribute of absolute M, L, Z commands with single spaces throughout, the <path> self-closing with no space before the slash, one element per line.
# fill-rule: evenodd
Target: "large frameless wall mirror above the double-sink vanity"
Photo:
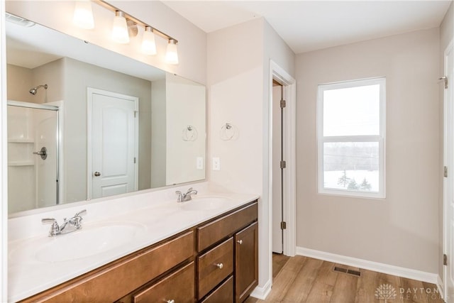
<path fill-rule="evenodd" d="M 204 180 L 203 85 L 6 20 L 10 215 Z"/>

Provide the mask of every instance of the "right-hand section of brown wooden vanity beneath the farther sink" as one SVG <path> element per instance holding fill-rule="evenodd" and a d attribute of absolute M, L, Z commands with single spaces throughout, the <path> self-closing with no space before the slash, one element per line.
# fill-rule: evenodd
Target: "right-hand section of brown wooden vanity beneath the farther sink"
<path fill-rule="evenodd" d="M 214 254 L 223 247 L 223 260 L 230 259 L 228 263 L 223 262 L 229 266 L 231 263 L 235 264 L 233 277 L 229 277 L 227 280 L 233 279 L 234 296 L 232 299 L 237 303 L 243 302 L 258 285 L 257 219 L 258 204 L 255 202 L 196 228 L 196 247 L 197 251 L 201 253 L 201 257 Z M 228 243 L 233 243 L 231 250 L 227 249 Z M 217 253 L 217 255 L 221 255 L 221 253 Z M 220 259 L 215 261 L 213 258 L 209 262 L 204 262 L 201 257 L 198 260 L 198 299 L 201 299 L 202 302 L 231 302 L 230 297 L 226 297 L 225 301 L 219 299 L 225 295 L 227 287 L 225 282 L 219 283 L 228 277 L 229 270 L 221 274 L 221 271 L 215 270 L 215 265 L 219 263 Z M 206 265 L 204 265 L 205 263 Z M 209 270 L 206 270 L 205 266 L 208 266 Z M 216 278 L 211 277 L 213 273 L 216 274 Z"/>

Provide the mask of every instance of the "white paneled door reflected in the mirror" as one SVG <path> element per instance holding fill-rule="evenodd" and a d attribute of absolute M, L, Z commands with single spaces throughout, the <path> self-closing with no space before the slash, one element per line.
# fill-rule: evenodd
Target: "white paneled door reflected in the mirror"
<path fill-rule="evenodd" d="M 88 89 L 89 199 L 125 194 L 138 184 L 138 98 Z"/>

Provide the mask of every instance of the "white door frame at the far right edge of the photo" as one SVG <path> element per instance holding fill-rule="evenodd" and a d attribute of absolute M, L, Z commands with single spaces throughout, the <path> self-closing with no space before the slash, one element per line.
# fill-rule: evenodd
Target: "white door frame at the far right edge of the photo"
<path fill-rule="evenodd" d="M 443 73 L 445 76 L 448 76 L 449 74 L 446 58 L 449 52 L 454 52 L 453 47 L 453 40 L 451 40 L 448 44 L 448 47 L 445 48 L 445 51 L 443 53 Z M 452 85 L 452 83 L 448 82 L 448 85 Z M 454 128 L 454 96 L 452 92 L 452 88 L 443 88 L 443 165 L 445 165 L 445 167 L 448 167 L 448 177 L 443 177 L 443 254 L 454 253 L 452 251 L 448 251 L 448 246 L 450 245 L 449 241 L 453 241 L 452 239 L 450 240 L 448 238 L 448 228 L 450 228 L 448 218 L 450 214 L 449 204 L 454 195 L 452 175 L 452 171 L 454 170 L 454 158 L 452 155 L 450 156 L 450 154 L 454 152 L 454 131 L 452 131 Z M 454 231 L 451 231 L 450 235 L 452 236 L 453 234 Z M 448 292 L 448 272 L 445 268 L 445 265 L 442 266 L 443 298 L 446 299 L 446 292 Z"/>

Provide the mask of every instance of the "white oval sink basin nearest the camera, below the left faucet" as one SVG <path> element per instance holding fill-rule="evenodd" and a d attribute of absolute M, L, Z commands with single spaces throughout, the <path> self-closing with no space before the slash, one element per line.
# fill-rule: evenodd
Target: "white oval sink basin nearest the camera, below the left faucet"
<path fill-rule="evenodd" d="M 9 259 L 55 263 L 87 258 L 123 246 L 145 230 L 141 224 L 125 221 L 82 225 L 72 233 L 23 241 L 10 250 Z"/>

